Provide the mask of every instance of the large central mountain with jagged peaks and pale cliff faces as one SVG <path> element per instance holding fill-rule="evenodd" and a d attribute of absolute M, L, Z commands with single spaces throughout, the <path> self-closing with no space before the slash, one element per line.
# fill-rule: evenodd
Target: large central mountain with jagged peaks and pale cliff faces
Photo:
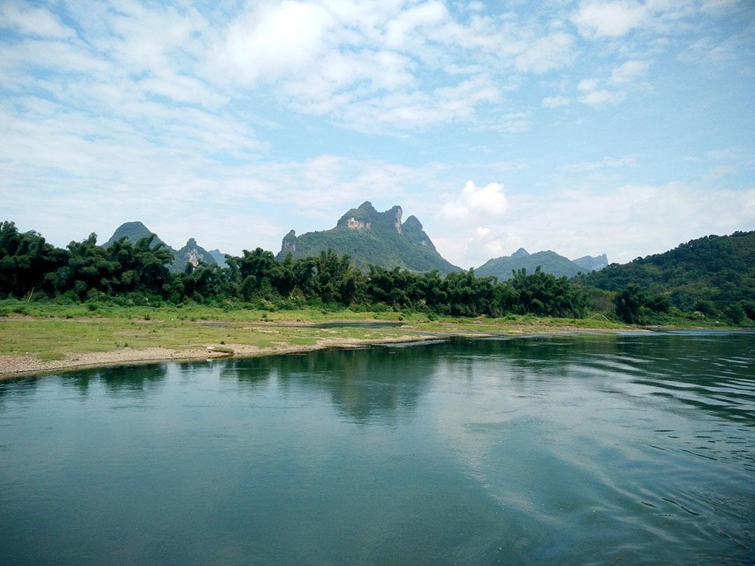
<path fill-rule="evenodd" d="M 404 267 L 425 272 L 437 269 L 441 274 L 459 271 L 438 253 L 420 221 L 408 217 L 402 223 L 403 211 L 394 206 L 378 212 L 365 201 L 338 220 L 336 226 L 321 232 L 300 236 L 294 230 L 285 235 L 278 259 L 317 256 L 331 248 L 337 254 L 349 254 L 356 265 L 374 263 L 384 267 Z"/>

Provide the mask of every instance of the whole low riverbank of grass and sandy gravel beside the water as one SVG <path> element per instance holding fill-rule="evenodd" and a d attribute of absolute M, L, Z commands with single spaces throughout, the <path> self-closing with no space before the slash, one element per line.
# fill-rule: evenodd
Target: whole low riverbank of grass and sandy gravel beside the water
<path fill-rule="evenodd" d="M 516 315 L 438 318 L 419 313 L 315 309 L 225 312 L 202 306 L 88 312 L 85 306 L 33 304 L 26 312 L 0 316 L 0 379 L 100 365 L 307 352 L 448 336 L 633 329 L 599 315 L 582 319 Z"/>

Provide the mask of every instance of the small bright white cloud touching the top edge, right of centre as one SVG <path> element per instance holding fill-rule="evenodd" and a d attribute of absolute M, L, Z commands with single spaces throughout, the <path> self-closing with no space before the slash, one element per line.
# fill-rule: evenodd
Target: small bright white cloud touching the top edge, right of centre
<path fill-rule="evenodd" d="M 619 37 L 643 23 L 647 15 L 646 6 L 632 0 L 588 0 L 572 14 L 572 22 L 589 38 Z"/>

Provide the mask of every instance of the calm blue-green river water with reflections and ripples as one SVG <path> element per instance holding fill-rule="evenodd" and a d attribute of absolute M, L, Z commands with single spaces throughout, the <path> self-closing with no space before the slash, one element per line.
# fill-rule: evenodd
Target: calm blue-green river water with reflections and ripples
<path fill-rule="evenodd" d="M 755 334 L 449 340 L 0 382 L 5 564 L 755 557 Z"/>

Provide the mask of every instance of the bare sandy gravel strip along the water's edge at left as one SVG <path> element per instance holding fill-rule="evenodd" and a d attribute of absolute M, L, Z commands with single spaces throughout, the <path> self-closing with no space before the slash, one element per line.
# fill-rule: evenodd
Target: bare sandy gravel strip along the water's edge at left
<path fill-rule="evenodd" d="M 66 355 L 60 360 L 42 361 L 35 355 L 0 355 L 0 380 L 14 377 L 28 377 L 38 374 L 51 374 L 61 370 L 98 368 L 103 366 L 137 365 L 156 363 L 158 361 L 207 360 L 212 358 L 249 357 L 255 355 L 291 354 L 311 352 L 325 348 L 353 348 L 373 344 L 416 342 L 434 340 L 435 336 L 411 335 L 381 338 L 377 340 L 326 338 L 312 346 L 276 346 L 260 348 L 248 344 L 227 344 L 233 354 L 215 352 L 208 347 L 168 349 L 168 348 L 123 348 L 111 352 L 88 352 L 85 354 Z"/>

